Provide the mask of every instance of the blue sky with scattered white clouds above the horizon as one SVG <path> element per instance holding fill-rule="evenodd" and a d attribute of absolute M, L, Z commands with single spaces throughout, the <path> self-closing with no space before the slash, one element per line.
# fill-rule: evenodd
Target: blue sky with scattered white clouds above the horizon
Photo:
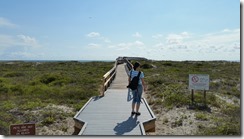
<path fill-rule="evenodd" d="M 0 0 L 0 60 L 240 60 L 240 0 Z"/>

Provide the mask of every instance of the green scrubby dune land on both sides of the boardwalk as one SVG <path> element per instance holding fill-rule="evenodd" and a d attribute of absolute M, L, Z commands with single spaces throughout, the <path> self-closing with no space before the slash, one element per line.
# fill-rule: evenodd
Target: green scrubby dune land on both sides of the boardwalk
<path fill-rule="evenodd" d="M 140 62 L 149 87 L 146 99 L 157 117 L 156 132 L 150 135 L 241 134 L 240 63 Z M 102 76 L 113 64 L 0 62 L 0 134 L 9 134 L 9 125 L 18 123 L 36 123 L 39 135 L 72 134 L 67 118 L 72 121 L 99 94 Z M 196 109 L 187 109 L 189 74 L 209 74 L 207 109 L 198 107 L 203 104 L 201 91 L 195 93 Z"/>

